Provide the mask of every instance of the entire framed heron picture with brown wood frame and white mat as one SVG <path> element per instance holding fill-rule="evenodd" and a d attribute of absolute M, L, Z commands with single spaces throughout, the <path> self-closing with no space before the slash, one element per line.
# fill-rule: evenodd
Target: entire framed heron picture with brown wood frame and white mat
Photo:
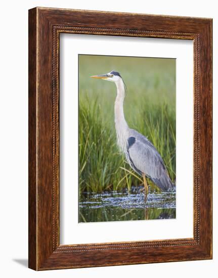
<path fill-rule="evenodd" d="M 212 19 L 29 10 L 29 267 L 211 258 Z"/>

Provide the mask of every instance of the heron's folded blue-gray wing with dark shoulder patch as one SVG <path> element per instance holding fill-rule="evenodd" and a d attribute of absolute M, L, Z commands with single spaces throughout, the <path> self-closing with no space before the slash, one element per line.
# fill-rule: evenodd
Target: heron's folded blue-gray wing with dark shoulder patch
<path fill-rule="evenodd" d="M 163 191 L 173 188 L 164 162 L 152 143 L 136 130 L 130 132 L 127 156 L 131 165 L 140 173 L 145 173 Z M 135 138 L 135 140 L 133 139 Z"/>

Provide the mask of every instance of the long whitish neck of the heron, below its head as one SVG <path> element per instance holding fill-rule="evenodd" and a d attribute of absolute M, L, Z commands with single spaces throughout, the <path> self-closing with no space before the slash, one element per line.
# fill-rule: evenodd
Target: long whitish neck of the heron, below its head
<path fill-rule="evenodd" d="M 126 153 L 127 138 L 128 138 L 128 125 L 125 121 L 123 113 L 123 101 L 125 97 L 125 87 L 122 79 L 117 81 L 117 97 L 114 105 L 115 114 L 115 128 L 117 136 L 117 145 L 121 152 Z"/>

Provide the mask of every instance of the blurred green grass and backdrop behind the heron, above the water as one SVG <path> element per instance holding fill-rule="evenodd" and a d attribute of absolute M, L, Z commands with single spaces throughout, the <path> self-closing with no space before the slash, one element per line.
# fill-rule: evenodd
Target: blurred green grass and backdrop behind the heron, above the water
<path fill-rule="evenodd" d="M 116 146 L 113 82 L 91 75 L 118 71 L 126 86 L 125 119 L 154 144 L 176 178 L 176 59 L 79 55 L 79 193 L 143 184 Z M 150 192 L 158 188 L 148 179 Z"/>

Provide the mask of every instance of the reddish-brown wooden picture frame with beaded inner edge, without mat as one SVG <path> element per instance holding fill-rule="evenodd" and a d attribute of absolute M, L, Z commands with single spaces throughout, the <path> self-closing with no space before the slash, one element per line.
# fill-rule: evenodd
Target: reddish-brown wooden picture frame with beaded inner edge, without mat
<path fill-rule="evenodd" d="M 60 245 L 59 34 L 194 42 L 194 238 Z M 35 270 L 212 258 L 212 19 L 29 10 L 29 267 Z"/>

